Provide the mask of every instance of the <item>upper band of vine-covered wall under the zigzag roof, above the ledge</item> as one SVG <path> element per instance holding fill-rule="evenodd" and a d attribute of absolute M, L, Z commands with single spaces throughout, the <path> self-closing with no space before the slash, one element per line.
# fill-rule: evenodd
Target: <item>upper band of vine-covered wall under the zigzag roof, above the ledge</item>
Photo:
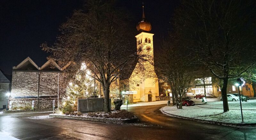
<path fill-rule="evenodd" d="M 13 72 L 11 96 L 38 96 L 39 72 Z M 67 82 L 59 73 L 59 93 L 65 94 Z M 39 96 L 58 95 L 58 73 L 40 72 Z"/>

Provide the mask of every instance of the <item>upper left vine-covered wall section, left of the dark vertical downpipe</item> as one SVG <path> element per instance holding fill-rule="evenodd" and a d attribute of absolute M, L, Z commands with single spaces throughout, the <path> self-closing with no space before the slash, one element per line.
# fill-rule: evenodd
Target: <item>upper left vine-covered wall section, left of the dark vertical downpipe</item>
<path fill-rule="evenodd" d="M 38 72 L 12 72 L 11 96 L 37 96 Z"/>

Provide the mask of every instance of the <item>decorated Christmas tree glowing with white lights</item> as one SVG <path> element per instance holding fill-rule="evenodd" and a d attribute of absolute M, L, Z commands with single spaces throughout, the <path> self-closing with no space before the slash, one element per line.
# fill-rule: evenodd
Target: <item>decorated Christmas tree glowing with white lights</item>
<path fill-rule="evenodd" d="M 85 63 L 82 63 L 81 69 L 66 88 L 66 96 L 62 98 L 63 113 L 77 111 L 77 99 L 86 99 L 94 95 L 94 86 L 96 95 L 99 95 L 98 84 L 94 85 L 94 78 L 89 75 L 93 74 L 86 69 Z"/>

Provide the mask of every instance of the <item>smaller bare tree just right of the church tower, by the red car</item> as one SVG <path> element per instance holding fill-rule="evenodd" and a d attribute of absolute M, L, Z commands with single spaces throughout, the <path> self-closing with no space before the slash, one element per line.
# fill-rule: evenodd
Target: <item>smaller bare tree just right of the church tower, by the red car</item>
<path fill-rule="evenodd" d="M 194 74 L 191 68 L 193 57 L 182 46 L 174 46 L 165 41 L 156 55 L 156 73 L 160 80 L 167 82 L 172 90 L 173 105 L 182 109 L 182 98 L 193 84 Z"/>

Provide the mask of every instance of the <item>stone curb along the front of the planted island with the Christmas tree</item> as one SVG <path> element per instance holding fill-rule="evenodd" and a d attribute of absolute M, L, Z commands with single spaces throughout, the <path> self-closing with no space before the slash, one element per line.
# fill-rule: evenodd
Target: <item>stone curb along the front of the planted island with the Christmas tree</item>
<path fill-rule="evenodd" d="M 71 115 L 55 115 L 50 114 L 50 117 L 64 118 L 64 119 L 76 119 L 76 120 L 86 120 L 94 122 L 107 122 L 107 123 L 133 123 L 139 122 L 137 117 L 132 119 L 115 119 L 115 118 L 97 118 L 97 117 L 85 117 L 85 116 L 71 116 Z"/>

